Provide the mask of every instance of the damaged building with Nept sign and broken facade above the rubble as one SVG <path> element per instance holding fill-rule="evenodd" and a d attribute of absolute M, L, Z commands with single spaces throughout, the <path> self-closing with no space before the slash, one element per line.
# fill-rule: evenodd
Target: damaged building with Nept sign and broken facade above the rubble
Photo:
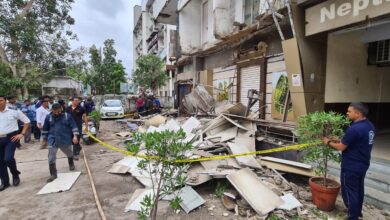
<path fill-rule="evenodd" d="M 256 114 L 262 135 L 257 148 L 296 143 L 301 115 L 367 103 L 377 136 L 366 200 L 390 206 L 389 1 L 163 0 L 144 7 L 152 12 L 140 19 L 155 26 L 135 50 L 149 52 L 156 23 L 176 27 L 166 57 L 175 68 L 169 88 L 179 113 L 188 113 L 185 98 L 200 94 L 199 85 L 217 103 L 249 106 L 244 111 Z M 272 156 L 298 160 L 300 152 Z M 331 173 L 339 169 L 332 165 Z"/>

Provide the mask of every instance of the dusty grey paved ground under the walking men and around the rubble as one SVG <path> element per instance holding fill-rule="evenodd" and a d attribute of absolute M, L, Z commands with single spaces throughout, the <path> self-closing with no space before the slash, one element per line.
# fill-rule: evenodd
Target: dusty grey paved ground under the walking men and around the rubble
<path fill-rule="evenodd" d="M 103 121 L 101 129 L 100 138 L 115 146 L 124 147 L 121 144 L 123 141 L 114 135 L 114 132 L 120 130 L 114 121 Z M 97 144 L 83 146 L 107 218 L 137 219 L 137 213 L 124 213 L 124 208 L 135 189 L 144 187 L 130 174 L 115 175 L 106 172 L 113 163 L 122 159 L 123 155 L 106 151 L 105 148 Z M 23 144 L 23 148 L 16 152 L 18 169 L 22 173 L 20 176 L 21 184 L 0 192 L 0 220 L 100 219 L 83 160 L 76 161 L 76 170 L 81 171 L 82 174 L 70 191 L 36 195 L 49 177 L 47 150 L 39 149 L 39 143 Z M 60 151 L 58 152 L 57 169 L 59 173 L 69 172 L 67 159 Z M 205 193 L 209 195 L 212 191 Z M 219 203 L 219 201 L 215 202 Z M 211 217 L 207 208 L 192 212 L 190 215 L 184 212 L 174 215 L 168 203 L 162 202 L 160 209 L 160 219 L 194 220 Z M 222 213 L 220 216 L 222 217 Z"/>

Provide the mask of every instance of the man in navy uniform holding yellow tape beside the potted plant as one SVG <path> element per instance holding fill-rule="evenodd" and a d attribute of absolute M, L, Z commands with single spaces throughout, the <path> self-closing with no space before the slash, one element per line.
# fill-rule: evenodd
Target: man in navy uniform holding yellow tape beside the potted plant
<path fill-rule="evenodd" d="M 366 118 L 367 114 L 368 108 L 364 104 L 351 103 L 347 116 L 353 122 L 343 139 L 323 138 L 325 144 L 342 151 L 341 195 L 348 208 L 349 220 L 363 219 L 364 178 L 370 166 L 375 136 L 374 126 Z"/>

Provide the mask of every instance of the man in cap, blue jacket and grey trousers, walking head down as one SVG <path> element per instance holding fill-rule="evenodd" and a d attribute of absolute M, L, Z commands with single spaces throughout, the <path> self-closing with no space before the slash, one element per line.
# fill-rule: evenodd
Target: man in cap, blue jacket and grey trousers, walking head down
<path fill-rule="evenodd" d="M 79 130 L 72 116 L 62 112 L 62 107 L 59 103 L 52 105 L 52 112 L 46 116 L 43 124 L 42 136 L 49 149 L 49 170 L 50 178 L 47 182 L 51 182 L 57 178 L 56 157 L 58 148 L 68 157 L 69 169 L 74 170 L 73 162 L 73 144 L 78 143 L 77 136 Z"/>

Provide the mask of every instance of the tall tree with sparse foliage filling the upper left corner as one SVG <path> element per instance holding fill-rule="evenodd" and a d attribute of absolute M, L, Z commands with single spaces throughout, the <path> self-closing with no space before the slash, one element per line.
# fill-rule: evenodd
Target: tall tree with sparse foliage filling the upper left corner
<path fill-rule="evenodd" d="M 72 59 L 69 15 L 73 0 L 7 0 L 0 2 L 0 60 L 11 73 L 18 95 L 28 97 L 29 87 L 47 80 L 58 60 Z M 11 85 L 9 84 L 9 85 Z"/>

